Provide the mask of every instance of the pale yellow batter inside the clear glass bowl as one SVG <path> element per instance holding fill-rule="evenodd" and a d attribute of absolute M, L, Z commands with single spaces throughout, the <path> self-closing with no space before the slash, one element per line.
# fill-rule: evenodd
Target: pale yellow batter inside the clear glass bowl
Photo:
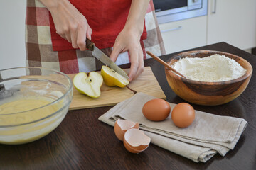
<path fill-rule="evenodd" d="M 0 106 L 0 126 L 20 125 L 23 123 L 30 123 L 30 124 L 16 126 L 14 128 L 6 128 L 6 130 L 1 130 L 0 143 L 19 144 L 19 143 L 31 142 L 33 140 L 37 140 L 40 137 L 43 137 L 44 135 L 47 135 L 48 132 L 50 132 L 57 126 L 57 125 L 52 125 L 55 122 L 54 119 L 49 120 L 48 123 L 41 123 L 41 125 L 37 125 L 38 123 L 31 123 L 31 122 L 35 120 L 39 120 L 41 118 L 45 118 L 47 115 L 51 115 L 52 113 L 55 113 L 55 111 L 58 111 L 62 106 L 61 103 L 55 103 L 53 105 L 46 106 L 51 102 L 53 102 L 53 99 L 41 97 L 41 98 L 17 98 L 15 101 L 10 101 L 8 103 L 2 104 Z M 42 106 L 45 106 L 45 107 L 42 107 Z M 11 113 L 14 113 L 14 114 L 11 114 Z M 36 132 L 36 134 L 33 134 L 33 132 L 36 130 L 38 130 L 38 132 Z M 23 135 L 21 137 L 21 134 L 22 135 L 27 134 L 27 135 Z M 12 135 L 16 135 L 16 137 L 14 138 L 14 141 L 6 142 L 5 139 L 7 137 L 11 137 Z"/>

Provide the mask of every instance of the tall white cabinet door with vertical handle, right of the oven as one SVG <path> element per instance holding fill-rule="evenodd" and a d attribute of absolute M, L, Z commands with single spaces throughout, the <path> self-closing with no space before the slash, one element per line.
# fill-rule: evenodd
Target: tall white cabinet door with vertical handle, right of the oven
<path fill-rule="evenodd" d="M 209 0 L 207 44 L 228 42 L 246 50 L 256 47 L 255 0 Z"/>

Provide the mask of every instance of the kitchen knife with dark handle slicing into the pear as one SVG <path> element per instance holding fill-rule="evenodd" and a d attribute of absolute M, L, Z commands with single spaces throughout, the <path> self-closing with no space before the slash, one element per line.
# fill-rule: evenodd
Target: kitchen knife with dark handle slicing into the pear
<path fill-rule="evenodd" d="M 114 69 L 115 72 L 121 74 L 123 77 L 129 79 L 128 75 L 124 70 L 122 70 L 120 67 L 115 64 L 110 57 L 107 57 L 107 55 L 104 54 L 100 49 L 98 49 L 93 42 L 91 42 L 89 39 L 86 38 L 86 47 L 88 50 L 92 51 L 92 55 L 96 57 L 98 60 L 106 64 L 111 69 Z"/>

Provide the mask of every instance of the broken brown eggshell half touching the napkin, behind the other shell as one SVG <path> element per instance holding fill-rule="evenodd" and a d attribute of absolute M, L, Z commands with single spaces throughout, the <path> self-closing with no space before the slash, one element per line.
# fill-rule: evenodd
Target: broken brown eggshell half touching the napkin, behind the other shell
<path fill-rule="evenodd" d="M 124 140 L 124 133 L 131 128 L 139 128 L 139 123 L 134 123 L 130 120 L 117 119 L 114 123 L 114 134 L 121 141 Z"/>

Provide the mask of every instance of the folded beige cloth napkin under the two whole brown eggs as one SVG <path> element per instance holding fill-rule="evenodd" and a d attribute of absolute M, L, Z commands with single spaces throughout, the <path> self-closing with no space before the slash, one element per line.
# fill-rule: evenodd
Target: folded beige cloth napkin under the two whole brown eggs
<path fill-rule="evenodd" d="M 118 103 L 99 120 L 114 126 L 115 120 L 123 118 L 139 123 L 139 129 L 151 137 L 151 143 L 180 154 L 194 162 L 206 162 L 217 152 L 225 154 L 235 147 L 245 130 L 247 121 L 242 118 L 213 115 L 195 111 L 196 118 L 188 128 L 178 128 L 169 117 L 161 122 L 147 120 L 142 114 L 144 103 L 153 99 L 143 93 Z M 169 103 L 172 108 L 176 106 Z"/>

